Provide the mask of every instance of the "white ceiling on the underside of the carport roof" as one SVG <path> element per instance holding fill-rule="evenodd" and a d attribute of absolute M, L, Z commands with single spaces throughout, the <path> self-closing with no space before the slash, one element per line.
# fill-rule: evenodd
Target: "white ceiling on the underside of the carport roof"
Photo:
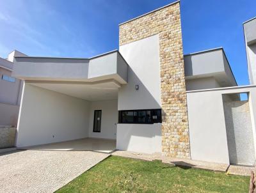
<path fill-rule="evenodd" d="M 29 82 L 28 84 L 33 84 L 34 86 L 82 98 L 88 101 L 116 99 L 119 88 L 115 82 L 101 82 L 99 84 L 76 84 L 76 82 L 72 84 Z"/>

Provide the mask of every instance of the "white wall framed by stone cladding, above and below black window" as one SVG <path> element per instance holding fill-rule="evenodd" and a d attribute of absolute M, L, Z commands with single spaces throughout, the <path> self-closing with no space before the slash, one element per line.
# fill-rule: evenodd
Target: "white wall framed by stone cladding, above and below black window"
<path fill-rule="evenodd" d="M 118 111 L 161 109 L 159 35 L 122 45 L 120 53 L 129 68 L 128 84 L 118 91 Z M 161 124 L 118 124 L 116 148 L 141 153 L 161 152 Z"/>

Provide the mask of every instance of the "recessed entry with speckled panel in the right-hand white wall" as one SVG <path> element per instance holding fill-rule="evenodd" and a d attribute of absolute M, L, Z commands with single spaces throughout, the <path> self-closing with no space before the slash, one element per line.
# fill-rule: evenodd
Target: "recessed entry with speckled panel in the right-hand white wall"
<path fill-rule="evenodd" d="M 237 94 L 222 95 L 230 164 L 253 165 L 255 156 L 248 100 L 236 100 L 232 95 Z"/>

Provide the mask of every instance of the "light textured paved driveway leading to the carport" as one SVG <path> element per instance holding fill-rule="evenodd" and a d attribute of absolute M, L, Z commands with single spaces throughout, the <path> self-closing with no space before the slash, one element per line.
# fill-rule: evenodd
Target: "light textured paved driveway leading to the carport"
<path fill-rule="evenodd" d="M 54 192 L 109 155 L 45 150 L 0 154 L 0 192 Z"/>

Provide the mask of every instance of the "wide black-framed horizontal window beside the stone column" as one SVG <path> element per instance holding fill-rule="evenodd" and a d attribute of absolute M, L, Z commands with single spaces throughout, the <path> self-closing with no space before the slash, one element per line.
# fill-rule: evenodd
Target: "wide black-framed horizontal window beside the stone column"
<path fill-rule="evenodd" d="M 119 111 L 119 123 L 162 123 L 161 109 Z"/>

